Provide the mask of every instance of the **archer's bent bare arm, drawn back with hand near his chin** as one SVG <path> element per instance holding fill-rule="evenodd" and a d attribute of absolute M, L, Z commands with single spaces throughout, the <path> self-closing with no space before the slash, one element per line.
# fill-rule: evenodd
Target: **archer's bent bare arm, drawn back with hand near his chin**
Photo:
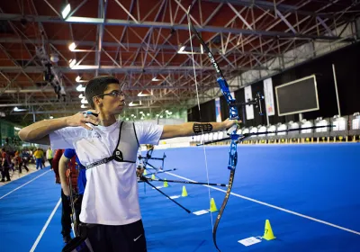
<path fill-rule="evenodd" d="M 90 110 L 89 112 L 95 112 Z M 85 123 L 94 123 L 97 125 L 99 119 L 92 114 L 86 117 L 83 113 L 76 113 L 72 116 L 50 119 L 46 121 L 37 121 L 19 131 L 19 138 L 26 142 L 49 145 L 49 133 L 66 127 L 81 126 L 86 130 L 92 130 Z"/>

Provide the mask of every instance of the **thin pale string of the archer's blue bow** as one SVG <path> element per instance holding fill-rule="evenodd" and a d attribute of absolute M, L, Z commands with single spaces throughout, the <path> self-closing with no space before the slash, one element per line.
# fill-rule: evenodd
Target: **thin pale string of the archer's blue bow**
<path fill-rule="evenodd" d="M 189 28 L 189 38 L 190 38 L 190 47 L 191 47 L 191 52 L 192 52 L 192 58 L 193 58 L 193 40 L 192 40 L 192 34 L 191 34 L 191 29 L 190 29 L 190 8 L 191 5 L 189 6 L 188 10 L 187 10 L 187 24 L 188 24 L 188 28 Z M 201 109 L 200 109 L 200 99 L 199 99 L 199 91 L 198 91 L 198 87 L 197 87 L 197 78 L 196 78 L 196 70 L 195 70 L 195 60 L 193 58 L 193 76 L 194 76 L 194 81 L 195 81 L 195 90 L 196 90 L 196 98 L 197 98 L 197 106 L 199 108 L 199 117 L 200 117 L 200 121 L 202 121 L 202 113 L 201 113 Z M 206 179 L 207 179 L 207 183 L 208 183 L 208 193 L 209 193 L 209 210 L 211 210 L 211 193 L 210 193 L 210 180 L 209 180 L 209 168 L 208 168 L 208 160 L 207 160 L 207 156 L 206 156 L 206 148 L 204 143 L 204 135 L 203 135 L 203 130 L 202 130 L 202 149 L 203 149 L 203 156 L 205 158 L 205 169 L 206 169 Z M 212 218 L 212 212 L 210 211 L 210 216 L 211 216 L 211 230 L 213 230 L 213 218 Z"/>

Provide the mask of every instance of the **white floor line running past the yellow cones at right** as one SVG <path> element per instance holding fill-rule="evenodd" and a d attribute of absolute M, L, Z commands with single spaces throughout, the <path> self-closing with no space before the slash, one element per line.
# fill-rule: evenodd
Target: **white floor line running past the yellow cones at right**
<path fill-rule="evenodd" d="M 191 179 L 186 178 L 186 177 L 181 176 L 181 175 L 175 175 L 175 174 L 169 173 L 169 172 L 166 172 L 166 174 L 168 174 L 168 175 L 174 175 L 174 176 L 176 176 L 176 177 L 182 178 L 182 179 L 187 180 L 187 181 L 197 182 L 197 181 L 191 180 Z M 206 184 L 205 184 L 205 185 L 203 185 L 203 186 L 210 187 L 211 189 L 218 190 L 218 191 L 220 191 L 220 192 L 222 192 L 222 193 L 226 193 L 225 190 L 222 190 L 222 189 L 220 189 L 220 188 L 217 188 L 217 187 L 214 187 L 214 186 L 211 186 L 211 185 L 206 185 Z M 257 202 L 257 203 L 259 203 L 259 204 L 266 205 L 266 206 L 268 206 L 268 207 L 272 207 L 272 208 L 275 208 L 275 209 L 280 210 L 280 211 L 285 211 L 285 212 L 288 212 L 288 213 L 291 213 L 291 214 L 300 216 L 300 217 L 302 217 L 302 218 L 306 218 L 306 219 L 309 219 L 309 220 L 314 220 L 314 221 L 320 222 L 320 223 L 322 223 L 322 224 L 325 224 L 325 225 L 328 225 L 328 226 L 331 226 L 331 227 L 334 227 L 334 228 L 337 228 L 337 229 L 342 229 L 342 230 L 345 230 L 345 231 L 347 231 L 347 232 L 354 233 L 354 234 L 360 236 L 360 232 L 358 232 L 358 231 L 355 231 L 355 230 L 352 230 L 352 229 L 347 229 L 347 228 L 338 226 L 338 225 L 336 225 L 336 224 L 330 223 L 330 222 L 325 221 L 325 220 L 319 220 L 319 219 L 313 218 L 313 217 L 308 216 L 308 215 L 304 215 L 304 214 L 299 213 L 299 212 L 296 212 L 296 211 L 290 211 L 290 210 L 284 209 L 284 208 L 282 208 L 282 207 L 275 206 L 275 205 L 273 205 L 273 204 L 269 204 L 269 203 L 266 203 L 266 202 L 260 202 L 260 201 L 257 201 L 257 200 L 255 200 L 255 199 L 248 198 L 248 197 L 246 197 L 246 196 L 240 195 L 240 194 L 238 194 L 238 193 L 231 193 L 231 195 L 237 196 L 238 198 L 242 198 L 242 199 L 247 200 L 247 201 L 250 201 L 250 202 Z"/>

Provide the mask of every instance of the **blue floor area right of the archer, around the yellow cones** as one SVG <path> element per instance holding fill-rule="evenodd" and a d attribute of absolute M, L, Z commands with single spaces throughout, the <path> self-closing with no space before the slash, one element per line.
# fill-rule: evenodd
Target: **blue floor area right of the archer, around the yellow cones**
<path fill-rule="evenodd" d="M 179 168 L 174 172 L 176 175 L 206 181 L 203 148 L 165 151 L 166 168 Z M 228 151 L 229 147 L 206 148 L 212 183 L 229 181 Z M 162 152 L 154 151 L 153 156 L 161 157 Z M 356 215 L 360 209 L 360 197 L 357 196 L 360 193 L 360 169 L 356 162 L 359 154 L 358 144 L 240 145 L 232 192 L 360 233 L 360 219 Z M 160 176 L 178 179 L 171 175 Z M 171 185 L 164 189 L 166 193 L 181 194 L 182 184 Z M 186 188 L 189 197 L 179 199 L 179 202 L 192 211 L 209 208 L 206 187 L 186 185 Z M 211 189 L 211 197 L 218 208 L 224 195 Z M 156 192 L 147 193 L 141 203 L 142 209 L 146 209 L 143 217 L 149 231 L 150 251 L 166 251 L 173 243 L 172 250 L 175 251 L 215 251 L 209 214 L 187 216 L 163 196 L 156 197 Z M 262 236 L 266 219 L 272 224 L 275 240 L 264 240 L 250 247 L 238 244 L 239 239 Z M 360 236 L 230 196 L 218 229 L 218 245 L 223 251 L 360 251 Z"/>

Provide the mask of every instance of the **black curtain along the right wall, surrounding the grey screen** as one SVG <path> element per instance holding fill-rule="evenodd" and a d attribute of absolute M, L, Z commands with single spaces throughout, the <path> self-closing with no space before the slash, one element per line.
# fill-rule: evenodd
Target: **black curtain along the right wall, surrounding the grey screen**
<path fill-rule="evenodd" d="M 346 58 L 346 60 L 344 59 Z M 316 75 L 320 110 L 314 112 L 303 112 L 303 118 L 313 120 L 317 117 L 332 117 L 338 114 L 338 105 L 334 84 L 334 76 L 332 71 L 332 64 L 336 68 L 336 76 L 338 82 L 338 96 L 340 102 L 341 114 L 349 115 L 354 112 L 360 112 L 359 94 L 360 94 L 360 42 L 347 46 L 343 49 L 338 49 L 332 53 L 324 55 L 320 58 L 302 63 L 299 66 L 292 67 L 278 75 L 272 76 L 273 91 L 275 99 L 275 115 L 269 116 L 269 123 L 276 124 L 278 122 L 299 121 L 299 115 L 285 115 L 278 116 L 275 86 L 283 85 L 287 82 L 300 79 L 305 76 Z M 257 92 L 264 94 L 264 83 L 260 80 L 251 85 L 253 97 L 256 97 Z M 303 97 L 306 99 L 306 97 Z M 241 88 L 235 92 L 235 99 L 237 103 L 245 102 L 244 89 Z M 265 108 L 265 103 L 263 103 Z M 209 120 L 215 121 L 215 101 L 212 100 L 208 103 L 203 103 L 202 121 Z M 220 111 L 221 120 L 224 121 L 229 118 L 229 106 L 225 98 L 220 96 Z M 190 109 L 188 118 L 191 121 L 199 121 L 199 110 L 197 106 Z M 238 106 L 238 115 L 243 119 L 242 107 Z M 190 121 L 190 120 L 189 120 Z M 257 108 L 254 108 L 254 119 L 245 120 L 246 126 L 266 125 L 266 115 L 259 115 Z"/>

